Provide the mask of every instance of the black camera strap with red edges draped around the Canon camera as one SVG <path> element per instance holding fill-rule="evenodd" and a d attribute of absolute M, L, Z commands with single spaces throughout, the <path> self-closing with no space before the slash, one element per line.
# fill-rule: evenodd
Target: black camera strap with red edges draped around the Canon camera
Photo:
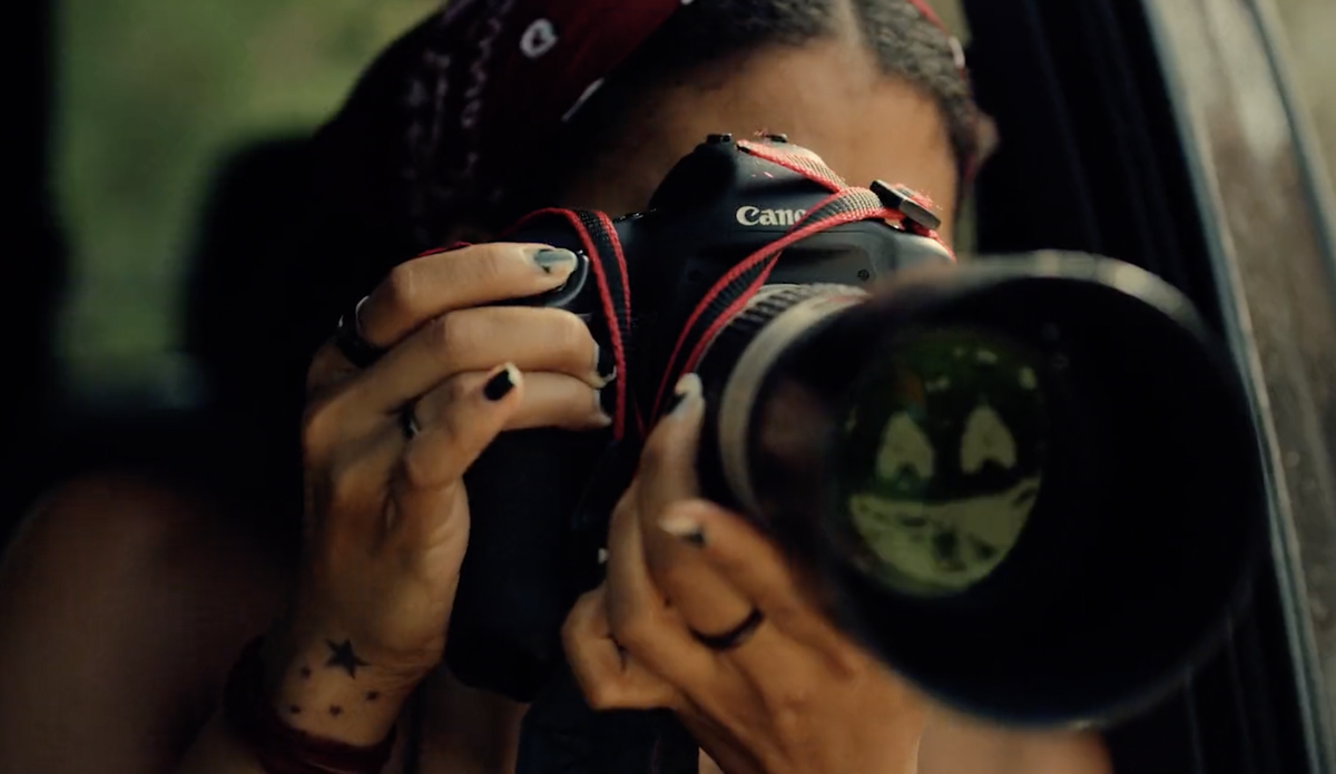
<path fill-rule="evenodd" d="M 649 417 L 659 416 L 669 386 L 696 368 L 709 342 L 766 285 L 780 255 L 791 245 L 844 223 L 880 219 L 946 247 L 935 230 L 904 211 L 911 209 L 904 206 L 906 202 L 931 210 L 931 202 L 923 197 L 896 188 L 899 199 L 890 199 L 871 188 L 850 187 L 819 156 L 796 146 L 745 140 L 737 144 L 744 152 L 822 184 L 830 195 L 782 238 L 745 257 L 705 293 L 676 341 Z M 639 378 L 633 350 L 628 346 L 632 340 L 631 281 L 617 231 L 605 214 L 540 210 L 516 227 L 532 225 L 538 218 L 565 222 L 589 257 L 601 318 L 592 325 L 596 332 L 607 333 L 619 373 L 615 442 L 604 452 L 573 513 L 574 551 L 584 555 L 605 545 L 608 513 L 635 475 L 647 433 L 645 414 L 631 388 Z M 696 762 L 695 741 L 671 713 L 595 713 L 585 704 L 569 670 L 561 670 L 525 715 L 517 770 L 518 774 L 695 774 Z"/>

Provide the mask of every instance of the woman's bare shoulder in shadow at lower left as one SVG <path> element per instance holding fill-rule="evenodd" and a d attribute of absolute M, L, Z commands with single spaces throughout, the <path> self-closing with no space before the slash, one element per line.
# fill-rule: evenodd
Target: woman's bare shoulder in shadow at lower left
<path fill-rule="evenodd" d="M 48 493 L 0 561 L 0 770 L 167 770 L 287 596 L 248 523 L 136 476 Z"/>

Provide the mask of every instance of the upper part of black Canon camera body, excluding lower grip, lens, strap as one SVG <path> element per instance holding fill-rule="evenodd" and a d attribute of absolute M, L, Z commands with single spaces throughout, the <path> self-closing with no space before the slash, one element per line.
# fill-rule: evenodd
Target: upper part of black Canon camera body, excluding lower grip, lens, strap
<path fill-rule="evenodd" d="M 819 171 L 804 170 L 808 163 Z M 791 233 L 832 197 L 834 186 L 843 186 L 826 175 L 831 174 L 819 156 L 790 144 L 783 135 L 741 142 L 711 135 L 672 168 L 644 213 L 608 222 L 635 298 L 628 346 L 636 350 L 640 370 L 631 374 L 633 388 L 647 389 L 648 374 L 661 374 L 671 356 L 664 349 L 724 274 Z M 832 184 L 824 184 L 827 180 Z M 864 286 L 904 269 L 955 261 L 937 237 L 941 221 L 915 191 L 882 182 L 868 190 L 900 217 L 891 222 L 855 219 L 819 230 L 784 249 L 766 283 Z M 577 253 L 578 269 L 564 287 L 524 303 L 574 311 L 591 324 L 600 346 L 612 346 L 611 332 L 601 326 L 605 321 L 589 257 L 596 245 L 585 243 L 569 218 L 553 211 L 526 218 L 505 238 Z"/>

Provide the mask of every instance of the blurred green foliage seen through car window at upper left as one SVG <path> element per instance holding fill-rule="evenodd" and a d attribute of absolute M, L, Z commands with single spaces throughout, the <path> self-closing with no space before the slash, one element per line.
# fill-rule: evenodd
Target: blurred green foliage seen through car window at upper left
<path fill-rule="evenodd" d="M 55 164 L 71 258 L 67 384 L 163 370 L 179 341 L 182 258 L 222 158 L 317 126 L 379 48 L 438 5 L 61 0 Z"/>

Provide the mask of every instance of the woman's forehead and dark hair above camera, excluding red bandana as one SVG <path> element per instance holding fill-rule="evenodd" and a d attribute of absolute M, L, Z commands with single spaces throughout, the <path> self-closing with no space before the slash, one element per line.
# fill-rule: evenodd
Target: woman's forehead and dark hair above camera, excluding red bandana
<path fill-rule="evenodd" d="M 557 198 L 632 211 L 707 134 L 774 131 L 855 184 L 892 178 L 950 210 L 978 155 L 955 45 L 910 0 L 692 3 L 564 132 Z"/>

